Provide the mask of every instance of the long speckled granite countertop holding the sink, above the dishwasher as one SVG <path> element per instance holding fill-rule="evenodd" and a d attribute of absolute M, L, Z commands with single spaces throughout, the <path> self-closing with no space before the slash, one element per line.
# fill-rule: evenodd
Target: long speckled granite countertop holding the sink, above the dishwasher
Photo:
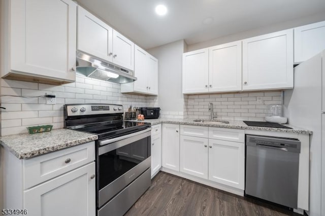
<path fill-rule="evenodd" d="M 207 127 L 220 127 L 220 128 L 231 128 L 231 129 L 242 129 L 242 130 L 261 130 L 261 131 L 270 131 L 270 132 L 285 132 L 285 133 L 302 133 L 302 134 L 312 134 L 310 130 L 305 130 L 303 128 L 298 128 L 292 125 L 285 124 L 284 126 L 291 127 L 293 129 L 285 128 L 270 128 L 270 127 L 253 127 L 246 125 L 243 121 L 229 121 L 229 124 L 219 123 L 219 122 L 193 122 L 194 119 L 146 119 L 145 122 L 151 123 L 151 125 L 156 125 L 160 123 L 169 123 L 169 124 L 181 124 L 181 125 L 196 125 L 196 126 L 207 126 Z M 205 119 L 208 121 L 208 119 Z M 136 121 L 136 120 L 135 120 Z"/>

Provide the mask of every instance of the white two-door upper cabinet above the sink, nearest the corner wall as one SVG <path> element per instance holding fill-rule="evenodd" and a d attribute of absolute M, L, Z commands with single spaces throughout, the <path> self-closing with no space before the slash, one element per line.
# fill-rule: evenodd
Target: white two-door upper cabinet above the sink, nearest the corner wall
<path fill-rule="evenodd" d="M 239 91 L 241 81 L 241 41 L 183 54 L 184 94 Z"/>

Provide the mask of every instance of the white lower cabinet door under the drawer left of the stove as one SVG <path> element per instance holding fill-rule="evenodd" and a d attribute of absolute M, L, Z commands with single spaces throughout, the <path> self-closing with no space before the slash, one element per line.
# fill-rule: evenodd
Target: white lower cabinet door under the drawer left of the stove
<path fill-rule="evenodd" d="M 94 216 L 95 163 L 24 191 L 24 208 L 33 216 Z"/>

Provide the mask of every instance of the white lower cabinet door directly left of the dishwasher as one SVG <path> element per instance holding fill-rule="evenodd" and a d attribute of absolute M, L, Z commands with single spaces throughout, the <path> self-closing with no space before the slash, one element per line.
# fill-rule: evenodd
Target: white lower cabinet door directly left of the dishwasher
<path fill-rule="evenodd" d="M 209 139 L 209 180 L 244 190 L 245 144 Z"/>

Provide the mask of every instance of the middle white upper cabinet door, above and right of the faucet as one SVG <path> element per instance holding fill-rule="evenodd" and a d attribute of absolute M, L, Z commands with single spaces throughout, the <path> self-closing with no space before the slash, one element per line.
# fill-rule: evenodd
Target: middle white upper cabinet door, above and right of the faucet
<path fill-rule="evenodd" d="M 242 89 L 242 42 L 209 48 L 209 92 Z"/>

